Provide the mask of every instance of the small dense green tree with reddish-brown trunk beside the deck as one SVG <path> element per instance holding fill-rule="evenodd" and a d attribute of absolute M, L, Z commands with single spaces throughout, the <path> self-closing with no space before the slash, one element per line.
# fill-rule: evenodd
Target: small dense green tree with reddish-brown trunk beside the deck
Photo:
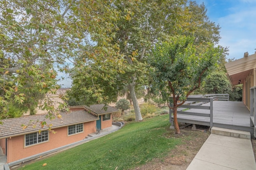
<path fill-rule="evenodd" d="M 212 43 L 198 47 L 194 37 L 175 36 L 169 41 L 156 44 L 149 57 L 154 68 L 153 79 L 164 100 L 172 99 L 174 127 L 180 133 L 177 107 L 201 85 L 202 80 L 217 66 L 222 55 L 220 47 Z"/>

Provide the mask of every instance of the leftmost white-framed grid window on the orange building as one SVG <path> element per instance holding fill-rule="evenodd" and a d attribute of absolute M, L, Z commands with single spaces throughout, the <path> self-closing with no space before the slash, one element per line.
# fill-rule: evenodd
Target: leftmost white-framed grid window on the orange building
<path fill-rule="evenodd" d="M 30 133 L 25 135 L 25 147 L 49 141 L 48 131 Z"/>

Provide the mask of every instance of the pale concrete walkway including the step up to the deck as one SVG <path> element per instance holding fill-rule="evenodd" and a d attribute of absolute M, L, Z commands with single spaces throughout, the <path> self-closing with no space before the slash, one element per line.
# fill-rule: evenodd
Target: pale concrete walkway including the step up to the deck
<path fill-rule="evenodd" d="M 213 127 L 187 170 L 256 170 L 250 133 Z"/>

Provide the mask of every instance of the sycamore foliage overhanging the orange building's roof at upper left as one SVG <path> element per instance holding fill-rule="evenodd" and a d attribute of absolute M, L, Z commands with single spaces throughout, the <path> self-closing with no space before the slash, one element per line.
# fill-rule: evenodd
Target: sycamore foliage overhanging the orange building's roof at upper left
<path fill-rule="evenodd" d="M 61 117 L 64 104 L 57 107 L 47 94 L 60 88 L 57 72 L 69 72 L 70 63 L 77 64 L 74 57 L 104 56 L 102 49 L 91 48 L 91 40 L 107 42 L 104 34 L 112 26 L 99 21 L 105 16 L 115 20 L 115 13 L 106 2 L 0 1 L 0 119 L 10 117 L 11 107 L 34 113 L 40 100 L 46 119 Z"/>

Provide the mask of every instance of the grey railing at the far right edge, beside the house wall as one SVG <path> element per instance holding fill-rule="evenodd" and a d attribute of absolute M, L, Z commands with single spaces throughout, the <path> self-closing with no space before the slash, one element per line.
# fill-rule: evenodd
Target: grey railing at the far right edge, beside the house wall
<path fill-rule="evenodd" d="M 250 88 L 250 126 L 254 127 L 256 137 L 256 86 Z"/>

